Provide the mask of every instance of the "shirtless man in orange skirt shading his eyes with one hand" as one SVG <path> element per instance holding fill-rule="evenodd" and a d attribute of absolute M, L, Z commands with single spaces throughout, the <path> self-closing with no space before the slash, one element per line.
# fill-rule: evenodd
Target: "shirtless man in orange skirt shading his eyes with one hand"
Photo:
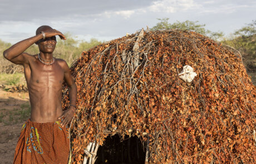
<path fill-rule="evenodd" d="M 67 124 L 76 110 L 76 84 L 67 63 L 53 57 L 56 36 L 65 36 L 50 26 L 41 26 L 36 36 L 24 39 L 6 49 L 3 56 L 24 67 L 31 118 L 23 125 L 13 163 L 67 163 L 70 140 Z M 24 51 L 33 43 L 40 53 Z M 66 81 L 70 107 L 62 111 L 62 83 Z"/>

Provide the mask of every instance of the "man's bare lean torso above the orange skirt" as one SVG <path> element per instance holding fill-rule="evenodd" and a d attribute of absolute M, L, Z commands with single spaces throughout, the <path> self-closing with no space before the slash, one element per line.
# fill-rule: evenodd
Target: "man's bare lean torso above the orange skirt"
<path fill-rule="evenodd" d="M 54 122 L 62 115 L 64 71 L 61 62 L 61 59 L 55 59 L 55 62 L 47 65 L 35 55 L 29 59 L 29 65 L 24 66 L 32 122 Z"/>

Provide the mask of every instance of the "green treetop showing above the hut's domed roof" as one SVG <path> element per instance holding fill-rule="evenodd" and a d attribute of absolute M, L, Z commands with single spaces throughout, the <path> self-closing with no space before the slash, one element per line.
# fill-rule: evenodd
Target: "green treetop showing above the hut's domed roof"
<path fill-rule="evenodd" d="M 211 32 L 208 29 L 205 29 L 205 24 L 198 24 L 199 21 L 184 21 L 171 24 L 168 22 L 169 18 L 159 19 L 160 22 L 156 23 L 156 26 L 152 27 L 151 30 L 165 30 L 165 29 L 181 29 L 181 30 L 190 30 L 194 32 L 198 32 L 204 36 L 209 36 L 213 39 L 220 39 L 224 36 L 223 32 Z"/>

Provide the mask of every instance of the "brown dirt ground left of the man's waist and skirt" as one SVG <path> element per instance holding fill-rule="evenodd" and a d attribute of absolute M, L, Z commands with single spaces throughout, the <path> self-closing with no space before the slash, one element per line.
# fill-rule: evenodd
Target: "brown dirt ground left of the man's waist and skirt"
<path fill-rule="evenodd" d="M 0 163 L 13 162 L 19 133 L 29 114 L 27 92 L 12 93 L 0 89 Z"/>

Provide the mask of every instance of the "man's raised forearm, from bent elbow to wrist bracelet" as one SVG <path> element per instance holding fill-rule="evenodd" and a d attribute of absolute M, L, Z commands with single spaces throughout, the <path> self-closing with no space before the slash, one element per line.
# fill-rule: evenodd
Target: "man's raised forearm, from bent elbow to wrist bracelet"
<path fill-rule="evenodd" d="M 9 60 L 13 59 L 19 56 L 19 54 L 23 53 L 28 47 L 30 47 L 32 44 L 36 43 L 42 38 L 42 34 L 37 34 L 34 37 L 24 39 L 23 41 L 20 41 L 11 46 L 10 48 L 6 49 L 6 51 L 3 52 L 3 56 Z"/>

